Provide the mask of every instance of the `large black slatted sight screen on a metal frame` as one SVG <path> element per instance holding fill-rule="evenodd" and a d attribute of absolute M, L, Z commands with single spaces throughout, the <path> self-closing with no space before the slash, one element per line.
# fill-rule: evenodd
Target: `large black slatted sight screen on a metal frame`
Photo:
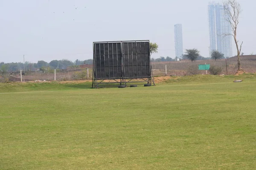
<path fill-rule="evenodd" d="M 93 88 L 101 84 L 127 85 L 133 79 L 154 84 L 149 40 L 93 42 Z M 112 79 L 113 82 L 104 82 Z"/>

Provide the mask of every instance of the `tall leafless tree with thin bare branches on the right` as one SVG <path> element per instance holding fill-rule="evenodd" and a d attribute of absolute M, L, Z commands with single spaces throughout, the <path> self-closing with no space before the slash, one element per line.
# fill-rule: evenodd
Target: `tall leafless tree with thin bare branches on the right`
<path fill-rule="evenodd" d="M 239 41 L 236 39 L 237 35 L 237 26 L 239 24 L 239 15 L 241 14 L 241 6 L 236 0 L 226 0 L 223 3 L 224 6 L 224 12 L 226 14 L 226 19 L 230 23 L 232 28 L 232 36 L 234 37 L 235 43 L 236 43 L 236 49 L 237 49 L 237 65 L 238 65 L 238 71 L 244 71 L 241 69 L 240 64 L 240 53 L 241 48 L 243 45 L 243 42 L 241 43 L 239 47 Z"/>

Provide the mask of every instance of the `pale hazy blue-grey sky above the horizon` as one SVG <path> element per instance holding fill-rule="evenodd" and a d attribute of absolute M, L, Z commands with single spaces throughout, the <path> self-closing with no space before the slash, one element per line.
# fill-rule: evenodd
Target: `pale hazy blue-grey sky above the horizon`
<path fill-rule="evenodd" d="M 218 1 L 215 1 L 218 2 Z M 221 2 L 221 1 L 220 1 Z M 0 0 L 0 62 L 92 59 L 94 41 L 150 40 L 175 58 L 174 25 L 183 48 L 209 57 L 209 0 Z M 238 38 L 256 53 L 255 0 L 239 0 Z M 233 54 L 235 54 L 235 46 Z"/>

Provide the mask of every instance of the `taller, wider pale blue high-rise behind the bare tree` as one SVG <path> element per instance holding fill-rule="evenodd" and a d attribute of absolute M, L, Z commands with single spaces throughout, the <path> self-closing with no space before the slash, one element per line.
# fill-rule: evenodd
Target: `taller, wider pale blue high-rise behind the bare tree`
<path fill-rule="evenodd" d="M 232 57 L 232 29 L 226 20 L 224 6 L 210 2 L 208 6 L 210 53 L 219 51 L 224 57 Z"/>

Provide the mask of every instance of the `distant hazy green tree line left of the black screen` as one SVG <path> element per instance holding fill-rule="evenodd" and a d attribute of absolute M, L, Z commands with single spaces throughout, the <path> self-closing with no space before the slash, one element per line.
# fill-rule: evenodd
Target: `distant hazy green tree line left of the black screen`
<path fill-rule="evenodd" d="M 93 59 L 87 60 L 79 60 L 72 62 L 68 59 L 61 59 L 61 60 L 52 60 L 51 62 L 46 62 L 44 60 L 40 60 L 37 63 L 31 62 L 10 62 L 10 63 L 0 63 L 0 71 L 20 71 L 25 68 L 25 71 L 33 71 L 36 68 L 52 68 L 52 69 L 67 69 L 72 65 L 83 65 L 83 64 L 93 64 Z"/>

